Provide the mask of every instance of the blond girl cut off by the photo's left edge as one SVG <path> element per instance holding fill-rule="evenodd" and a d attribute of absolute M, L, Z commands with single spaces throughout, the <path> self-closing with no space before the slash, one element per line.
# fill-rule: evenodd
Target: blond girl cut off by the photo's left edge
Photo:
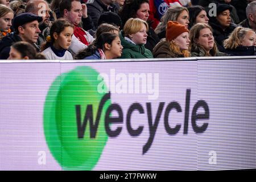
<path fill-rule="evenodd" d="M 13 10 L 5 5 L 0 5 L 0 41 L 10 34 L 13 16 Z"/>

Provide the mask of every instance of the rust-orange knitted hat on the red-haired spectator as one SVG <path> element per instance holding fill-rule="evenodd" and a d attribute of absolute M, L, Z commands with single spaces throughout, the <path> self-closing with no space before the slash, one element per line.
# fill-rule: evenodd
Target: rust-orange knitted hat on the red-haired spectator
<path fill-rule="evenodd" d="M 189 32 L 188 28 L 178 22 L 169 21 L 166 29 L 166 39 L 171 41 L 183 32 Z"/>

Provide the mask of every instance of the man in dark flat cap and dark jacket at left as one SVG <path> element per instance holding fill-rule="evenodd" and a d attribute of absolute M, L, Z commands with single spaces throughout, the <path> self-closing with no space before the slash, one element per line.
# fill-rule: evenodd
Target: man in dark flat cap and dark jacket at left
<path fill-rule="evenodd" d="M 31 43 L 40 52 L 40 47 L 35 43 L 41 32 L 39 23 L 42 20 L 41 16 L 36 16 L 32 13 L 22 13 L 16 16 L 13 20 L 14 32 L 9 36 L 5 36 L 0 42 L 0 59 L 7 59 L 11 45 L 19 41 Z"/>

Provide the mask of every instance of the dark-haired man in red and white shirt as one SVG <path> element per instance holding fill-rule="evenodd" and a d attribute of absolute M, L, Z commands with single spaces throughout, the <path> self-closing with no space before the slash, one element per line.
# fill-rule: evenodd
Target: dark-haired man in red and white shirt
<path fill-rule="evenodd" d="M 60 14 L 63 18 L 68 19 L 74 26 L 74 36 L 72 36 L 72 43 L 69 50 L 72 55 L 76 55 L 94 40 L 89 32 L 79 27 L 82 16 L 87 16 L 86 5 L 82 6 L 80 0 L 62 0 L 60 2 Z"/>

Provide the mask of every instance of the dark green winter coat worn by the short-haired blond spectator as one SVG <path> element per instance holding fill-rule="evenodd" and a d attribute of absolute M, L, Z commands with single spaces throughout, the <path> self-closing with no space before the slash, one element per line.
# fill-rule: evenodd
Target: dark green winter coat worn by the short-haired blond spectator
<path fill-rule="evenodd" d="M 121 44 L 123 46 L 122 59 L 129 58 L 153 58 L 152 52 L 144 47 L 144 45 L 135 45 L 125 40 L 123 31 L 119 33 Z"/>

